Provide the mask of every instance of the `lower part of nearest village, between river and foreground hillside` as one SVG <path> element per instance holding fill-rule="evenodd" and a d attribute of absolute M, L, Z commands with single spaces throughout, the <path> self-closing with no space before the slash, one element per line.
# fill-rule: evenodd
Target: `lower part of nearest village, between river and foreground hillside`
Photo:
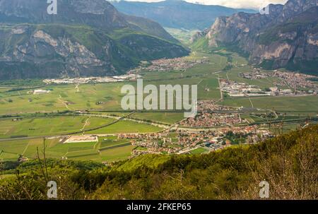
<path fill-rule="evenodd" d="M 225 127 L 209 131 L 182 131 L 163 133 L 119 134 L 118 138 L 129 139 L 136 148 L 133 156 L 144 154 L 184 154 L 201 148 L 206 153 L 221 150 L 236 144 L 252 144 L 269 138 L 271 133 L 259 126 Z"/>

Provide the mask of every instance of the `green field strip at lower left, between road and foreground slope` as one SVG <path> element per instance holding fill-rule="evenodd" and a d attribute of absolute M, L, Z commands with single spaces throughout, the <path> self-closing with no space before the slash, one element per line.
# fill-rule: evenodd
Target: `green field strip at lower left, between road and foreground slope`
<path fill-rule="evenodd" d="M 45 142 L 45 144 L 44 144 Z M 99 138 L 92 143 L 61 143 L 59 138 L 43 140 L 35 138 L 30 140 L 0 141 L 0 160 L 16 161 L 20 155 L 29 159 L 43 157 L 42 148 L 45 145 L 47 158 L 62 157 L 71 160 L 95 160 L 98 162 L 112 162 L 124 160 L 131 155 L 134 146 L 126 140 L 118 140 L 117 136 Z"/>

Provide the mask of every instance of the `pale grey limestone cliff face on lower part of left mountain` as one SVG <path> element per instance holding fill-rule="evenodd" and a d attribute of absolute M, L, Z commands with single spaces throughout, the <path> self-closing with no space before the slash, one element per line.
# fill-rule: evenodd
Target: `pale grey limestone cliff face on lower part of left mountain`
<path fill-rule="evenodd" d="M 4 40 L 1 43 L 6 44 L 0 47 L 0 78 L 93 76 L 118 72 L 110 58 L 116 46 L 107 37 L 100 47 L 105 52 L 101 58 L 71 36 L 50 34 L 47 29 L 39 30 L 32 25 L 0 27 L 0 37 Z M 129 61 L 124 54 L 119 57 Z"/>

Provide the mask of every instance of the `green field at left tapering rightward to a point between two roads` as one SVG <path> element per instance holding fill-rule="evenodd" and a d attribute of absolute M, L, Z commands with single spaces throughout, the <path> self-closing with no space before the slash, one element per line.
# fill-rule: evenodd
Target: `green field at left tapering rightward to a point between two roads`
<path fill-rule="evenodd" d="M 54 136 L 97 128 L 113 119 L 102 117 L 38 117 L 0 119 L 0 138 Z"/>

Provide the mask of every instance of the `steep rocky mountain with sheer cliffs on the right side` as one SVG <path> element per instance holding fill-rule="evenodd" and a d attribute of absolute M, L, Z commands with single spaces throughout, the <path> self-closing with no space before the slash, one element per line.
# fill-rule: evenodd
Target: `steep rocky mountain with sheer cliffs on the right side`
<path fill-rule="evenodd" d="M 290 0 L 269 5 L 269 14 L 221 16 L 193 37 L 194 49 L 228 47 L 249 55 L 251 64 L 318 74 L 318 2 Z"/>

